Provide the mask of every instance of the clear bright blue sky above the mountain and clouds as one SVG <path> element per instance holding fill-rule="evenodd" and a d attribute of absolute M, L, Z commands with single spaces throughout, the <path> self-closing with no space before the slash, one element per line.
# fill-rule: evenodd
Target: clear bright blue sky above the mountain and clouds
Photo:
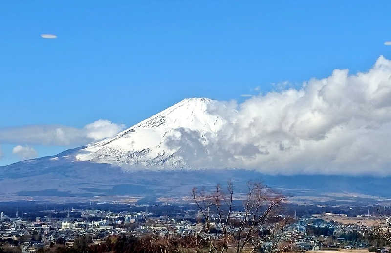
<path fill-rule="evenodd" d="M 130 126 L 186 97 L 240 102 L 273 83 L 366 71 L 391 59 L 390 9 L 386 0 L 2 2 L 0 129 Z M 12 149 L 27 142 L 0 140 L 0 165 L 21 160 Z M 44 156 L 76 144 L 29 145 Z"/>

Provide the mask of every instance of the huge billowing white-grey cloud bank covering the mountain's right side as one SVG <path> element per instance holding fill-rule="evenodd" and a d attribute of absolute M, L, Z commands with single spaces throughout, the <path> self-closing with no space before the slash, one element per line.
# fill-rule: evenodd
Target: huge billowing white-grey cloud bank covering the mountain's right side
<path fill-rule="evenodd" d="M 216 101 L 209 111 L 226 120 L 216 137 L 181 129 L 168 143 L 193 167 L 391 175 L 391 61 L 383 56 L 365 73 L 336 69 L 301 89 Z"/>

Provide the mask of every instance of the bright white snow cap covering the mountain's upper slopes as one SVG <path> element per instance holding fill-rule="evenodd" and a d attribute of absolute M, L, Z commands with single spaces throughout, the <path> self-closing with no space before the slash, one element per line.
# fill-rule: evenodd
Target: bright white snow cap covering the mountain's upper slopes
<path fill-rule="evenodd" d="M 113 138 L 89 144 L 78 150 L 76 161 L 92 161 L 132 169 L 189 168 L 177 154 L 180 146 L 168 145 L 168 140 L 181 137 L 181 131 L 197 131 L 201 143 L 213 137 L 225 123 L 209 112 L 213 100 L 188 98 L 118 133 Z"/>

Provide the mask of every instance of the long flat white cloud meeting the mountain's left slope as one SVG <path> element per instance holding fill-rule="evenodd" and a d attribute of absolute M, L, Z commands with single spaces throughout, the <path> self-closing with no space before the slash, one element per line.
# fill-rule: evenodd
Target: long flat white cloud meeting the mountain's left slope
<path fill-rule="evenodd" d="M 112 137 L 125 126 L 99 119 L 83 128 L 58 125 L 33 125 L 0 128 L 0 142 L 43 145 L 85 145 L 89 142 Z"/>

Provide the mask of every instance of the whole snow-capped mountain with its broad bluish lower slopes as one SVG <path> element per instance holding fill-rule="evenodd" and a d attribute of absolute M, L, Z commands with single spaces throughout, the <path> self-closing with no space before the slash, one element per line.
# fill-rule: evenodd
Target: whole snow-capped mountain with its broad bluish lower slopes
<path fill-rule="evenodd" d="M 228 180 L 237 189 L 245 189 L 249 180 L 261 180 L 293 195 L 345 192 L 391 197 L 390 177 L 270 176 L 254 170 L 194 166 L 188 159 L 197 155 L 199 147 L 181 145 L 181 140 L 192 133 L 197 145 L 209 152 L 208 143 L 226 124 L 210 110 L 213 106 L 215 101 L 207 98 L 184 99 L 112 138 L 0 167 L 0 200 L 183 196 L 192 187 Z M 218 106 L 225 110 L 224 104 Z"/>

